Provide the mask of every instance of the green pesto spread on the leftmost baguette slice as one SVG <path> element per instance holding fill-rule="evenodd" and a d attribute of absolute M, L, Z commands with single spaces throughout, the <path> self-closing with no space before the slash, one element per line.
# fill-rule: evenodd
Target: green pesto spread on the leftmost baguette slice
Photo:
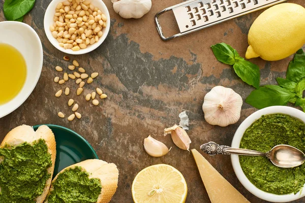
<path fill-rule="evenodd" d="M 17 147 L 0 149 L 4 160 L 0 163 L 0 202 L 34 203 L 42 194 L 50 174 L 51 155 L 44 140 L 34 145 L 23 143 Z"/>

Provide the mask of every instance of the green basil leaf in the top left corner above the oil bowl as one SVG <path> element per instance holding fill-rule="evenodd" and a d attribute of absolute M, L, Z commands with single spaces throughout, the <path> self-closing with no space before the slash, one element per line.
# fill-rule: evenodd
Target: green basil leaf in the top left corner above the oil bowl
<path fill-rule="evenodd" d="M 20 20 L 34 7 L 35 0 L 6 0 L 3 5 L 4 16 L 7 20 Z"/>

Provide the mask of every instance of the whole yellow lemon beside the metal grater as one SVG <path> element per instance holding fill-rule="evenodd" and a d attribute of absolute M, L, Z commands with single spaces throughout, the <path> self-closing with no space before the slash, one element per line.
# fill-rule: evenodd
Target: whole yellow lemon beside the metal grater
<path fill-rule="evenodd" d="M 248 35 L 246 58 L 280 60 L 305 43 L 305 9 L 285 3 L 264 11 L 253 22 Z"/>

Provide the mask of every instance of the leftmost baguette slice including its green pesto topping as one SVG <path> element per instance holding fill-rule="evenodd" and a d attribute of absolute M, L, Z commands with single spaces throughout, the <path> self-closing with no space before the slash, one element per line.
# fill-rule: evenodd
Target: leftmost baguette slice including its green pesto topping
<path fill-rule="evenodd" d="M 0 145 L 0 202 L 42 203 L 49 191 L 56 158 L 52 130 L 21 125 Z"/>

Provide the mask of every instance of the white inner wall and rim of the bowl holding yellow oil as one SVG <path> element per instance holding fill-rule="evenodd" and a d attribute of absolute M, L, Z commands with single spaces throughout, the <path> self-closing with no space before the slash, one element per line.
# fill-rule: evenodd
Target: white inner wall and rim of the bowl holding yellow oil
<path fill-rule="evenodd" d="M 0 22 L 0 30 L 0 43 L 15 47 L 26 62 L 25 83 L 12 100 L 0 105 L 2 118 L 22 105 L 34 90 L 42 69 L 43 52 L 41 41 L 31 26 L 22 22 L 4 21 Z"/>

